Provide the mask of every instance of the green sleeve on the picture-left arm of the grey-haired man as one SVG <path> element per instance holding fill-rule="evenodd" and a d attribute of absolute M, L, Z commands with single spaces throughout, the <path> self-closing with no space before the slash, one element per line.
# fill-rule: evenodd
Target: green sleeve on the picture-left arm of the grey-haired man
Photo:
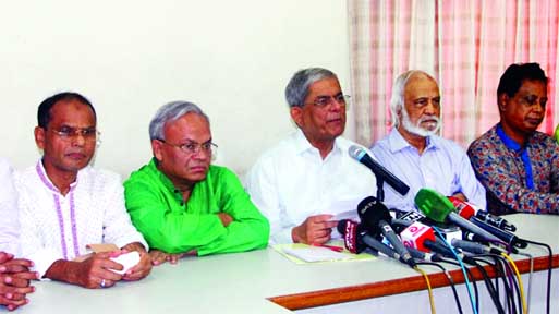
<path fill-rule="evenodd" d="M 158 180 L 141 174 L 133 173 L 124 183 L 126 209 L 150 247 L 168 253 L 189 252 L 227 233 L 217 215 L 184 212 L 173 193 Z"/>

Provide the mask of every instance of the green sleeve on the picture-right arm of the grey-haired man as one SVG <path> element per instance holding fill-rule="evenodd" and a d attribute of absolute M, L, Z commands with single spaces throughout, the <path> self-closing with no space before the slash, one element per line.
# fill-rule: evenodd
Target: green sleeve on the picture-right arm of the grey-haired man
<path fill-rule="evenodd" d="M 216 194 L 220 195 L 221 212 L 233 217 L 233 221 L 227 227 L 223 235 L 202 245 L 198 255 L 266 247 L 270 232 L 268 219 L 253 204 L 236 176 L 226 168 L 221 169 L 219 183 L 216 184 L 219 186 L 216 190 L 220 191 L 216 191 Z"/>

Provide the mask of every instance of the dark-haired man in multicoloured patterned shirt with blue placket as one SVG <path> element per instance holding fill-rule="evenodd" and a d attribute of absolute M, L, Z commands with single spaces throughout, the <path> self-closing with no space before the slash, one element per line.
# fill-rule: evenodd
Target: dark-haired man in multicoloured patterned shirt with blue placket
<path fill-rule="evenodd" d="M 511 64 L 497 88 L 500 122 L 467 150 L 495 214 L 559 214 L 559 145 L 536 131 L 547 82 L 537 63 Z"/>

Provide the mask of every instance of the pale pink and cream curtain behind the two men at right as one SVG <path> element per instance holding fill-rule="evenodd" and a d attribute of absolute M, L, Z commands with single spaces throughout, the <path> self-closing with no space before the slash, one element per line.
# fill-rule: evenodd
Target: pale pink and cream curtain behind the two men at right
<path fill-rule="evenodd" d="M 538 62 L 550 78 L 540 131 L 559 121 L 559 0 L 349 0 L 356 141 L 369 146 L 390 129 L 396 77 L 424 70 L 439 82 L 441 135 L 464 148 L 499 121 L 505 69 Z"/>

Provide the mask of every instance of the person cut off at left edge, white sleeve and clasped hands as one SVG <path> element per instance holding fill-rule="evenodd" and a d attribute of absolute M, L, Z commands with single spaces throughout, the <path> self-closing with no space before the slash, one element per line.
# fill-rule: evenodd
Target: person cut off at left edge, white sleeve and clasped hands
<path fill-rule="evenodd" d="M 8 161 L 0 158 L 0 304 L 10 311 L 27 304 L 25 295 L 35 291 L 29 280 L 38 278 L 29 271 L 31 261 L 14 257 L 20 254 L 20 224 L 12 171 Z"/>

